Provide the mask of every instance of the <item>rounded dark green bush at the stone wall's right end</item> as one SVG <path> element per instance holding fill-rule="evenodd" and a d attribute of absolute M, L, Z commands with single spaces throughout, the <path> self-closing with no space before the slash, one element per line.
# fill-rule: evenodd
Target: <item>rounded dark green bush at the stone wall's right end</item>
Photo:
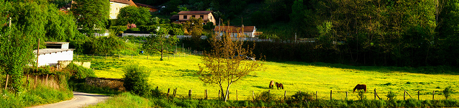
<path fill-rule="evenodd" d="M 145 67 L 127 65 L 124 68 L 124 72 L 123 86 L 127 91 L 140 96 L 148 96 L 150 94 L 150 86 L 147 83 L 149 73 L 145 70 Z"/>

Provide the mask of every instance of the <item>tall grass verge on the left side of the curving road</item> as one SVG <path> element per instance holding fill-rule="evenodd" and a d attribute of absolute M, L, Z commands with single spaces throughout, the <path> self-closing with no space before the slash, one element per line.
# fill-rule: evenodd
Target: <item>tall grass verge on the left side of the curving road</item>
<path fill-rule="evenodd" d="M 73 92 L 68 89 L 54 89 L 46 86 L 37 86 L 34 89 L 19 93 L 0 90 L 0 108 L 24 108 L 42 104 L 56 103 L 69 100 Z"/>

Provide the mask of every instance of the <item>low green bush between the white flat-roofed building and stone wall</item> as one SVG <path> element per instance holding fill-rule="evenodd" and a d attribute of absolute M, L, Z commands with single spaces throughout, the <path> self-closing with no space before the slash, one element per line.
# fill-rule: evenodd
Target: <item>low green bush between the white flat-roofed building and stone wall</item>
<path fill-rule="evenodd" d="M 64 69 L 72 75 L 71 77 L 74 77 L 76 79 L 84 79 L 86 77 L 96 77 L 92 69 L 83 67 L 81 65 L 76 65 L 74 63 L 70 63 Z"/>

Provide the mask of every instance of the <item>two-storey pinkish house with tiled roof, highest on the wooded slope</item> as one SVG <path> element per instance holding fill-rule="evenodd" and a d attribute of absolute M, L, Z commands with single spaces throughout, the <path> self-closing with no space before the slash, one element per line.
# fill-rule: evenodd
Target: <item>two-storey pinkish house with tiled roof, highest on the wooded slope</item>
<path fill-rule="evenodd" d="M 194 17 L 196 19 L 202 18 L 204 21 L 203 24 L 213 22 L 213 25 L 215 25 L 215 17 L 213 17 L 212 11 L 180 11 L 177 15 L 173 15 L 169 19 L 174 23 L 183 24 L 189 21 L 190 17 Z"/>

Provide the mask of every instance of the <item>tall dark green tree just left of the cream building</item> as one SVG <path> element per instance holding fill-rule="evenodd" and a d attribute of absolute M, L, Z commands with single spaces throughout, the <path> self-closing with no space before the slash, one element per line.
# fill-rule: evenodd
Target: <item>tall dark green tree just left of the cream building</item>
<path fill-rule="evenodd" d="M 105 27 L 110 15 L 108 0 L 74 0 L 70 11 L 73 13 L 81 32 L 92 34 Z"/>

